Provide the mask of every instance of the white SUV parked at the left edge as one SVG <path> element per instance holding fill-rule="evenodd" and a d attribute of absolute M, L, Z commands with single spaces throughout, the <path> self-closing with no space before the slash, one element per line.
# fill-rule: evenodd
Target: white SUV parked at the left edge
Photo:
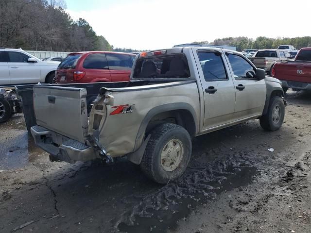
<path fill-rule="evenodd" d="M 0 48 L 0 85 L 52 83 L 59 63 L 41 61 L 21 49 Z"/>

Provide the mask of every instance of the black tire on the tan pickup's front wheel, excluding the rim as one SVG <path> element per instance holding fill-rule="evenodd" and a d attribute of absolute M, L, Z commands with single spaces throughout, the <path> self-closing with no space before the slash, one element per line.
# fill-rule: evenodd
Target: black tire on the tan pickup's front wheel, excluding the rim
<path fill-rule="evenodd" d="M 274 109 L 276 108 L 279 109 L 280 113 L 277 121 L 273 119 Z M 282 100 L 281 97 L 275 96 L 270 100 L 267 113 L 259 118 L 260 125 L 264 130 L 276 131 L 279 128 L 281 128 L 284 116 L 285 116 L 284 101 Z"/>

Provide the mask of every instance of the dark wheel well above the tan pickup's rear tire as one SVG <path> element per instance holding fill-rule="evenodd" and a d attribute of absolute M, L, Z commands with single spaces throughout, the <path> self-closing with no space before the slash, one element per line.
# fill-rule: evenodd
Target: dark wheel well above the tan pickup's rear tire
<path fill-rule="evenodd" d="M 180 125 L 188 131 L 190 136 L 195 135 L 196 128 L 194 118 L 190 111 L 183 109 L 162 112 L 153 116 L 147 125 L 145 135 L 148 135 L 148 132 L 154 129 L 157 125 L 165 122 Z"/>

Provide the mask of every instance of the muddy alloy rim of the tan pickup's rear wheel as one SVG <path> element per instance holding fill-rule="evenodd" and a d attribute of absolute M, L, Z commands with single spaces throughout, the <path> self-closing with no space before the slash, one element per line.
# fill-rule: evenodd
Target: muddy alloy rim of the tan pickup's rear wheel
<path fill-rule="evenodd" d="M 161 152 L 161 166 L 165 171 L 173 171 L 179 165 L 184 155 L 184 147 L 179 139 L 170 140 Z"/>

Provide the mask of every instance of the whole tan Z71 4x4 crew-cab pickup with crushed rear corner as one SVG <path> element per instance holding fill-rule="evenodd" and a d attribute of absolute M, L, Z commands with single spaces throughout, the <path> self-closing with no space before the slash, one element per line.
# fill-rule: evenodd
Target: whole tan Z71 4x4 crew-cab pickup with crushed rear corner
<path fill-rule="evenodd" d="M 89 85 L 102 86 L 92 93 Z M 286 105 L 279 80 L 238 52 L 204 47 L 142 52 L 130 82 L 33 90 L 37 125 L 31 133 L 52 161 L 126 155 L 157 183 L 183 174 L 191 137 L 249 119 L 278 130 Z M 91 105 L 89 96 L 97 96 Z"/>

